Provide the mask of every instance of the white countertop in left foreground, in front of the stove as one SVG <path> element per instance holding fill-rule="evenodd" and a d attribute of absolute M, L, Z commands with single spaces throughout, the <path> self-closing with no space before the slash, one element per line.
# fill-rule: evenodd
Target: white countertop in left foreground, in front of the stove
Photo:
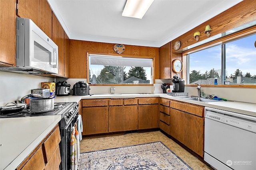
<path fill-rule="evenodd" d="M 60 120 L 61 115 L 0 119 L 0 169 L 16 169 Z"/>

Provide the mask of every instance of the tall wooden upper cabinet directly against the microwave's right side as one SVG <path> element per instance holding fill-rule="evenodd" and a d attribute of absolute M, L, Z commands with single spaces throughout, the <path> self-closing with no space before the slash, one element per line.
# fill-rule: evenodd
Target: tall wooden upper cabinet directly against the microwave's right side
<path fill-rule="evenodd" d="M 52 14 L 52 41 L 58 45 L 58 75 L 64 76 L 64 29 Z"/>

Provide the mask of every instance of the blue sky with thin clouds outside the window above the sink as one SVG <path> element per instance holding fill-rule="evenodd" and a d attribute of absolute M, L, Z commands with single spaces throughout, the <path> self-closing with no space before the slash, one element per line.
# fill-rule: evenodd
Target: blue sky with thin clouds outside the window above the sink
<path fill-rule="evenodd" d="M 226 44 L 227 76 L 238 68 L 242 74 L 250 72 L 252 76 L 256 75 L 255 41 L 256 34 Z M 210 71 L 212 68 L 221 69 L 221 45 L 190 54 L 190 71 L 196 70 L 204 74 L 206 70 Z"/>

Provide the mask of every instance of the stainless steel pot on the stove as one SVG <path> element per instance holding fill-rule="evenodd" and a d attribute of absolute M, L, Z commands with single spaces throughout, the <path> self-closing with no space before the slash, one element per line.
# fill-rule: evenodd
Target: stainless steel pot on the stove
<path fill-rule="evenodd" d="M 33 98 L 30 99 L 30 111 L 44 113 L 54 110 L 54 98 Z"/>

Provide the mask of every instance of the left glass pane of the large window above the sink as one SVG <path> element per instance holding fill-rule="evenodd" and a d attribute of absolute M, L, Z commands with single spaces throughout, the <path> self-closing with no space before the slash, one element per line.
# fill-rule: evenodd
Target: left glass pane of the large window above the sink
<path fill-rule="evenodd" d="M 221 84 L 221 45 L 191 53 L 187 57 L 189 84 L 214 84 L 215 77 Z"/>

